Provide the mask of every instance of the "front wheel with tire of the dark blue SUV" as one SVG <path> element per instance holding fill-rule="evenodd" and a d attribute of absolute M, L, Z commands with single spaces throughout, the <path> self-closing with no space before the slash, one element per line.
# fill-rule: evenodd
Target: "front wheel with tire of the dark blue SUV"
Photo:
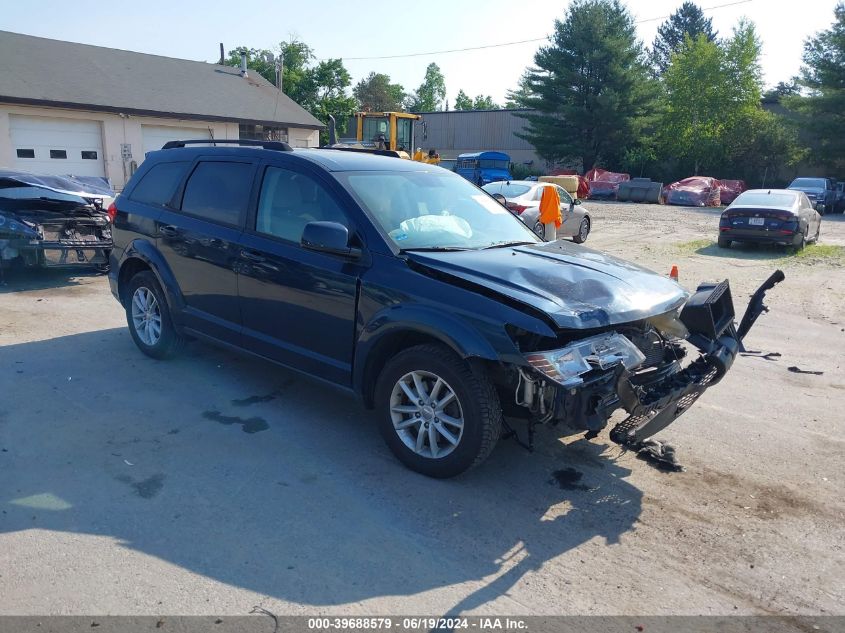
<path fill-rule="evenodd" d="M 390 450 L 429 477 L 454 477 L 477 466 L 501 434 L 502 410 L 490 379 L 442 345 L 417 345 L 388 361 L 375 404 Z"/>

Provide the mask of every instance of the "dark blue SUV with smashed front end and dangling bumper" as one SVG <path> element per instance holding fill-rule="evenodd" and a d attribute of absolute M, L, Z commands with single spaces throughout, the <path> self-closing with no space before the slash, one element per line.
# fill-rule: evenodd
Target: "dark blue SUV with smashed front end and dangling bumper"
<path fill-rule="evenodd" d="M 436 166 L 230 141 L 152 152 L 114 205 L 111 289 L 153 358 L 188 337 L 357 395 L 408 467 L 451 477 L 537 424 L 632 448 L 730 369 L 727 281 L 690 295 L 634 264 L 543 242 Z M 186 245 L 201 245 L 187 248 Z"/>

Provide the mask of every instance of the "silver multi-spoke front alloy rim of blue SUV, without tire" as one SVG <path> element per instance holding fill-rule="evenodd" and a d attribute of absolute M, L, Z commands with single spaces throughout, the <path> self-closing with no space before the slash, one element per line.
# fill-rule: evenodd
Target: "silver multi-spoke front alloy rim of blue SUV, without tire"
<path fill-rule="evenodd" d="M 446 457 L 460 444 L 464 414 L 457 394 L 437 374 L 412 371 L 390 395 L 390 417 L 402 442 L 421 457 Z"/>

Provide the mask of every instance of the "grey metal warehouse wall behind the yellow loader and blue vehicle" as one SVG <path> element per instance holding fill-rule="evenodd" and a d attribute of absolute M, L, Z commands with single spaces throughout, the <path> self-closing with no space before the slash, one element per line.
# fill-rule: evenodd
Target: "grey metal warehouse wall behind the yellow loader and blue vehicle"
<path fill-rule="evenodd" d="M 534 146 L 516 135 L 526 123 L 516 112 L 524 110 L 421 112 L 422 120 L 414 124 L 414 138 L 418 147 L 436 149 L 441 158 L 498 150 L 510 154 L 515 163 L 533 161 L 535 167 L 542 167 L 545 161 Z"/>

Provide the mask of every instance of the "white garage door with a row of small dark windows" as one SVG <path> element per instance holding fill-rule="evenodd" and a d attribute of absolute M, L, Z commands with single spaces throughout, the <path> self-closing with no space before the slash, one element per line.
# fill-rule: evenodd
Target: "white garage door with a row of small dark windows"
<path fill-rule="evenodd" d="M 99 121 L 9 115 L 15 168 L 41 174 L 105 176 Z"/>

